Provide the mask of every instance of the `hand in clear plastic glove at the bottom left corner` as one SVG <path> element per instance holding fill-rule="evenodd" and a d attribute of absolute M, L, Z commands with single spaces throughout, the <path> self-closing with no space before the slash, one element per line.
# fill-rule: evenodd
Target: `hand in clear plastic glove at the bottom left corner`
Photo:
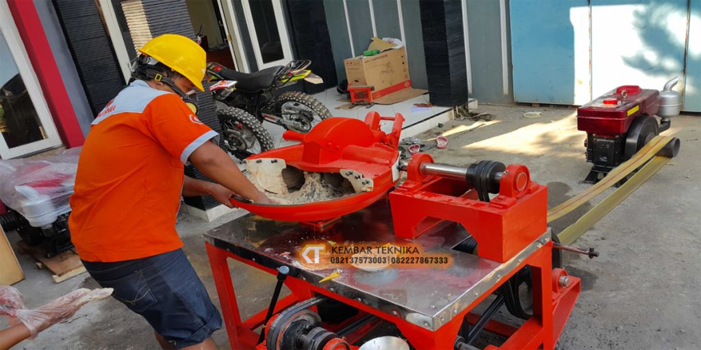
<path fill-rule="evenodd" d="M 39 332 L 50 325 L 73 316 L 84 304 L 109 297 L 112 291 L 112 288 L 93 290 L 80 288 L 42 307 L 27 309 L 22 300 L 22 294 L 17 289 L 11 286 L 0 286 L 0 315 L 8 316 L 12 325 L 24 323 L 34 339 Z"/>

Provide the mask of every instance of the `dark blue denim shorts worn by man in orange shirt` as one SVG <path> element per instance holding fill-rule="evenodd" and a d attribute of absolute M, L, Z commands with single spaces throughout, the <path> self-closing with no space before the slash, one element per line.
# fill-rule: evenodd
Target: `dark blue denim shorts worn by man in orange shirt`
<path fill-rule="evenodd" d="M 222 316 L 182 249 L 120 262 L 83 261 L 95 281 L 177 349 L 204 342 Z"/>

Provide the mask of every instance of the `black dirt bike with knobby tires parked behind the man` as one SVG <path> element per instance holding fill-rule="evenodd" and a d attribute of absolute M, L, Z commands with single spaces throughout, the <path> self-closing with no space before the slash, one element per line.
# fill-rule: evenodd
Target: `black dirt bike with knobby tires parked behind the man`
<path fill-rule="evenodd" d="M 217 62 L 207 64 L 206 77 L 222 123 L 222 142 L 226 151 L 241 160 L 275 148 L 273 139 L 263 127 L 267 120 L 285 130 L 306 133 L 331 112 L 318 99 L 303 92 L 277 95 L 280 87 L 300 80 L 322 83 L 319 76 L 306 69 L 309 60 L 292 61 L 255 73 L 241 73 Z"/>

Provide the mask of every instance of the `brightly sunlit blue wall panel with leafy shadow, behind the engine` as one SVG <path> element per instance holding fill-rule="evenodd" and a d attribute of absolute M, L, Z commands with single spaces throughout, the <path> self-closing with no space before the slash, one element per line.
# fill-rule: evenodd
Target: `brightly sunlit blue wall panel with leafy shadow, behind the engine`
<path fill-rule="evenodd" d="M 592 0 L 592 95 L 684 78 L 687 0 Z M 675 87 L 680 91 L 683 84 Z"/>

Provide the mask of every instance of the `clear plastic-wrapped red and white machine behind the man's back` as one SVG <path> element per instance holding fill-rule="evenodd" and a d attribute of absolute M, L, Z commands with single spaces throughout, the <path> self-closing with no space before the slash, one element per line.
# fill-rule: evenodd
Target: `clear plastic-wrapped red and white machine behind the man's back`
<path fill-rule="evenodd" d="M 0 160 L 0 200 L 41 228 L 71 210 L 81 148 L 41 160 Z"/>

